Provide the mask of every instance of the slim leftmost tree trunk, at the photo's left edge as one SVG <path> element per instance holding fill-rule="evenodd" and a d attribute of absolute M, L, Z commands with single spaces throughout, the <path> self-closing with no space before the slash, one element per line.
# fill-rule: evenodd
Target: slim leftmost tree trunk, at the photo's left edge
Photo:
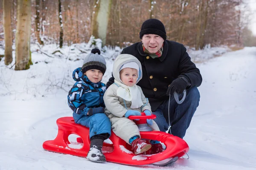
<path fill-rule="evenodd" d="M 12 1 L 3 0 L 3 30 L 4 30 L 4 63 L 9 65 L 12 62 Z"/>

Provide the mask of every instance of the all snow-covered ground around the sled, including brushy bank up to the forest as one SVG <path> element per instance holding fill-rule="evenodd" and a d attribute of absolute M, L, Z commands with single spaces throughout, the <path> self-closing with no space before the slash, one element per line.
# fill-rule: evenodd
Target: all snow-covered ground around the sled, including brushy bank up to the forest
<path fill-rule="evenodd" d="M 50 57 L 33 52 L 34 65 L 26 71 L 14 71 L 0 61 L 0 170 L 256 170 L 256 47 L 197 64 L 203 77 L 201 101 L 184 138 L 190 159 L 168 167 L 100 164 L 42 148 L 57 135 L 56 119 L 72 116 L 67 105 L 71 74 L 90 51 L 80 44 L 52 55 L 55 48 L 41 48 Z M 102 52 L 108 67 L 103 82 L 120 51 Z"/>

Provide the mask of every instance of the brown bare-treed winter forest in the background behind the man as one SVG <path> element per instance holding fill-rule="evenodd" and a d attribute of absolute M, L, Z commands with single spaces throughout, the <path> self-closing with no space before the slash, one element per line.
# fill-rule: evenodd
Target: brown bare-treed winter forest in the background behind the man
<path fill-rule="evenodd" d="M 253 46 L 249 6 L 246 0 L 0 0 L 0 47 L 9 65 L 15 44 L 15 70 L 23 70 L 31 62 L 31 43 L 62 48 L 93 35 L 102 46 L 123 48 L 140 41 L 148 18 L 164 23 L 168 40 L 195 50 Z"/>

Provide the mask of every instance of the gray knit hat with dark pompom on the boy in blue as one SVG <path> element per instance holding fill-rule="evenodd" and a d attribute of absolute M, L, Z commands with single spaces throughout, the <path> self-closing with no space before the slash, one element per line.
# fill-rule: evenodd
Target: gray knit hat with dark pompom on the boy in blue
<path fill-rule="evenodd" d="M 106 60 L 102 55 L 100 55 L 98 48 L 93 48 L 91 53 L 88 54 L 84 59 L 82 72 L 85 73 L 91 69 L 102 71 L 103 74 L 106 71 Z"/>

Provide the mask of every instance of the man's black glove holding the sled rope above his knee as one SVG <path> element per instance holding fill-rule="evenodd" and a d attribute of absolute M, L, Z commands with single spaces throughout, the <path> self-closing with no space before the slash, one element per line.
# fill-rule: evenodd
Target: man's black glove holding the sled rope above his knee
<path fill-rule="evenodd" d="M 172 83 L 168 86 L 166 95 L 172 96 L 175 91 L 181 94 L 186 89 L 186 87 L 190 85 L 191 84 L 188 82 L 188 80 L 185 77 L 178 77 L 177 79 L 173 80 Z"/>

